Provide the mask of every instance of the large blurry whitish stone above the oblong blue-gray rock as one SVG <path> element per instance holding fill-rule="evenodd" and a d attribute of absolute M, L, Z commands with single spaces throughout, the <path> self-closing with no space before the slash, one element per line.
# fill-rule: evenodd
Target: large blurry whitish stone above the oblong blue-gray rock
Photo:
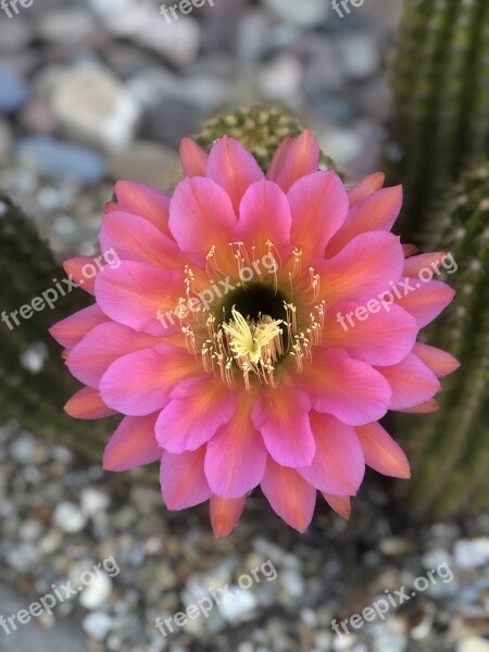
<path fill-rule="evenodd" d="M 98 64 L 76 66 L 58 80 L 52 108 L 71 138 L 108 151 L 134 138 L 140 108 L 109 68 Z"/>

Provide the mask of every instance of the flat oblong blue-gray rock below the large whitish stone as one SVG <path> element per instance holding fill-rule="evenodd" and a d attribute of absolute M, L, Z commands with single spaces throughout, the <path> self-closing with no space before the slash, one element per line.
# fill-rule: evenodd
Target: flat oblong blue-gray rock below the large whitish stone
<path fill-rule="evenodd" d="M 16 152 L 46 176 L 71 178 L 86 185 L 101 181 L 108 170 L 106 159 L 99 152 L 47 136 L 23 138 Z"/>

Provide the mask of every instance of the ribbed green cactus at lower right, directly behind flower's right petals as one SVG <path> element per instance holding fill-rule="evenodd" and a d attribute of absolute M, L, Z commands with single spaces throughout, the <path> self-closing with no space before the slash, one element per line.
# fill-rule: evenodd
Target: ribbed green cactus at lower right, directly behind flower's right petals
<path fill-rule="evenodd" d="M 412 511 L 455 515 L 489 506 L 489 163 L 454 187 L 432 229 L 428 250 L 450 251 L 459 269 L 456 299 L 428 341 L 462 368 L 442 380 L 440 411 L 401 418 L 399 431 L 413 461 Z"/>

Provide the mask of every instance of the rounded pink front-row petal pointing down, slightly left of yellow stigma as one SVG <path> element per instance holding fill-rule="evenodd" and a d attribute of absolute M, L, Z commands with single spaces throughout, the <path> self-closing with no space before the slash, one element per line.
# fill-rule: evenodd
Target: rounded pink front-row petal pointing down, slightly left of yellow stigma
<path fill-rule="evenodd" d="M 212 491 L 240 498 L 260 485 L 266 466 L 263 439 L 250 418 L 250 400 L 242 400 L 230 422 L 208 443 L 204 471 Z"/>

